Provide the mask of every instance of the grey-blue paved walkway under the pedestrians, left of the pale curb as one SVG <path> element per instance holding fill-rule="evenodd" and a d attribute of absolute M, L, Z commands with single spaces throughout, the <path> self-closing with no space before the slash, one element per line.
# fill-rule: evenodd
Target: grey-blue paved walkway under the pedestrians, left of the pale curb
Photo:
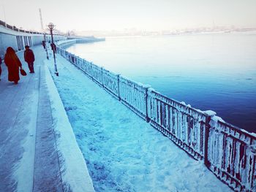
<path fill-rule="evenodd" d="M 26 77 L 20 75 L 18 85 L 7 80 L 7 67 L 1 65 L 0 191 L 78 191 L 63 178 L 69 165 L 56 141 L 43 66 L 45 51 L 41 46 L 33 50 L 34 74 L 29 73 L 23 51 L 18 52 L 27 72 Z M 78 185 L 81 180 L 72 183 Z M 94 191 L 90 184 L 88 191 Z"/>

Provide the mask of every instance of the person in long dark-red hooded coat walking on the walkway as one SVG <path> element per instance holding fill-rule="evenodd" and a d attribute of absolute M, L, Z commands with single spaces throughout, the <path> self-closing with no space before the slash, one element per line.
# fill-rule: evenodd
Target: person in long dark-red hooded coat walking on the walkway
<path fill-rule="evenodd" d="M 12 47 L 7 48 L 7 53 L 4 55 L 4 63 L 8 68 L 8 80 L 17 84 L 18 80 L 20 80 L 19 67 L 21 69 L 22 64 Z"/>

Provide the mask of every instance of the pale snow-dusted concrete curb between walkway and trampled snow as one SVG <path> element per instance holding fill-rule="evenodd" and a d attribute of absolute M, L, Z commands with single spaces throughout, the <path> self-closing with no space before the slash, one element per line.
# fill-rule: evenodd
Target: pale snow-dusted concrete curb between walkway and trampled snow
<path fill-rule="evenodd" d="M 45 67 L 45 80 L 50 97 L 57 150 L 59 151 L 62 183 L 70 191 L 94 192 L 86 161 L 78 147 L 72 126 L 69 123 L 48 66 L 46 62 L 44 63 L 45 66 L 42 67 Z"/>

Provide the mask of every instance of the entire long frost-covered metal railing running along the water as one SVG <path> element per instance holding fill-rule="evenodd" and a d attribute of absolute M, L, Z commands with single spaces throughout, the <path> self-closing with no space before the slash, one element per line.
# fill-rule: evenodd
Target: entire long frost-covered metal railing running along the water
<path fill-rule="evenodd" d="M 254 134 L 223 122 L 213 112 L 202 112 L 167 98 L 148 85 L 109 72 L 61 47 L 57 47 L 57 53 L 193 158 L 203 160 L 235 191 L 256 191 Z"/>

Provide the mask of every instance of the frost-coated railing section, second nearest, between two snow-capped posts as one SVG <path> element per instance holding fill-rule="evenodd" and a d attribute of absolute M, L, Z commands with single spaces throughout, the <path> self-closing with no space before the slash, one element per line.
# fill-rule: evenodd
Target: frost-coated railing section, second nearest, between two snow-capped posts
<path fill-rule="evenodd" d="M 196 159 L 203 159 L 207 115 L 185 104 L 148 91 L 151 125 L 167 135 Z"/>

